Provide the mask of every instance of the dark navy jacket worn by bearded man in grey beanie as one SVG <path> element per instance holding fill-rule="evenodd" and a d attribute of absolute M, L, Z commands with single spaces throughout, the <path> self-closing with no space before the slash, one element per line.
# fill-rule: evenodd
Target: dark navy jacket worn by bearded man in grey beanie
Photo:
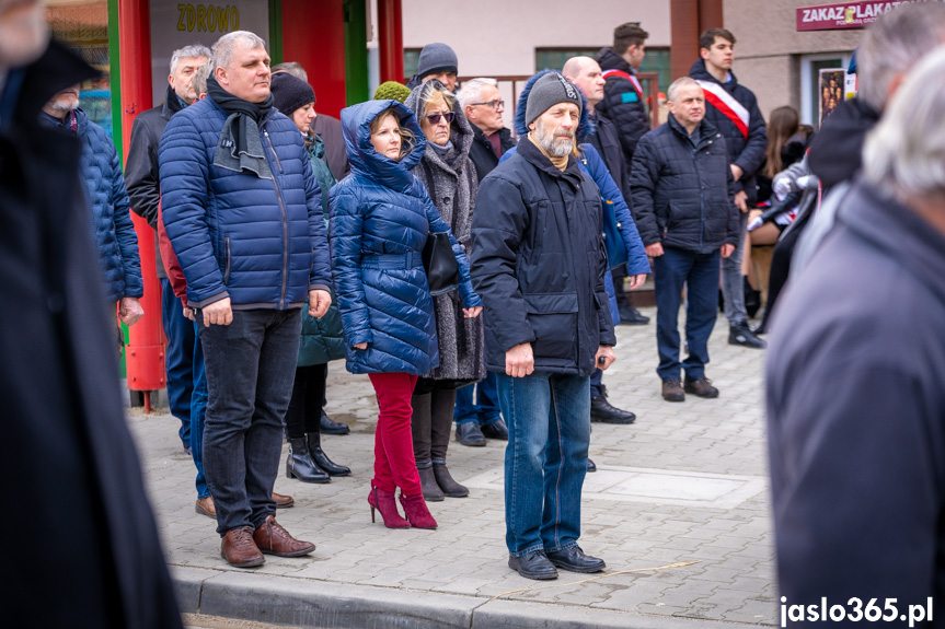
<path fill-rule="evenodd" d="M 472 228 L 473 288 L 485 303 L 486 368 L 530 342 L 534 369 L 587 376 L 615 345 L 604 290 L 600 190 L 574 158 L 564 172 L 531 140 L 480 185 Z"/>

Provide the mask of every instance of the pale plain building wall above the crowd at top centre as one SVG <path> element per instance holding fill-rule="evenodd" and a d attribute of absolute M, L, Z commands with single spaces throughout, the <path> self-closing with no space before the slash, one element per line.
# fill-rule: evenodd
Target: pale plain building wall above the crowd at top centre
<path fill-rule="evenodd" d="M 450 45 L 461 75 L 532 74 L 534 49 L 610 46 L 639 22 L 647 45 L 669 46 L 669 0 L 403 0 L 404 47 Z"/>

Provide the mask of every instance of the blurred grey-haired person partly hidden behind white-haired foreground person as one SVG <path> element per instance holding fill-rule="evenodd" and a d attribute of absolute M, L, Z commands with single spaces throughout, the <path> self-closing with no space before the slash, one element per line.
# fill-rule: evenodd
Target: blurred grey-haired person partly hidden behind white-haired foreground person
<path fill-rule="evenodd" d="M 774 249 L 772 266 L 787 257 L 791 278 L 807 267 L 833 226 L 839 200 L 860 172 L 866 135 L 906 73 L 943 43 L 945 5 L 941 3 L 903 4 L 866 31 L 856 55 L 860 93 L 837 108 L 810 145 L 808 163 L 820 178 L 823 202 L 816 212 L 794 221 Z"/>

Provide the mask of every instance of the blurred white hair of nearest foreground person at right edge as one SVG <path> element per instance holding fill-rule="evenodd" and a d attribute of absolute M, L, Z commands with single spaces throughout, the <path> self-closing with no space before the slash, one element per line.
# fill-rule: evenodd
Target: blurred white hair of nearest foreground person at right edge
<path fill-rule="evenodd" d="M 945 46 L 909 73 L 863 148 L 866 180 L 899 196 L 945 195 Z"/>

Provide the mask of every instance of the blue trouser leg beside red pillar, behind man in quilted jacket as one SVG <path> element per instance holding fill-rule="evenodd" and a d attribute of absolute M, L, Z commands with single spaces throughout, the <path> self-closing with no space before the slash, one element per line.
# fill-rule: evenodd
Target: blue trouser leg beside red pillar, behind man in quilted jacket
<path fill-rule="evenodd" d="M 177 435 L 184 447 L 191 444 L 191 396 L 194 393 L 194 351 L 197 335 L 194 322 L 184 316 L 181 300 L 174 296 L 171 281 L 161 278 L 161 324 L 168 337 L 164 368 L 168 371 L 168 404 L 171 415 L 181 420 Z"/>

